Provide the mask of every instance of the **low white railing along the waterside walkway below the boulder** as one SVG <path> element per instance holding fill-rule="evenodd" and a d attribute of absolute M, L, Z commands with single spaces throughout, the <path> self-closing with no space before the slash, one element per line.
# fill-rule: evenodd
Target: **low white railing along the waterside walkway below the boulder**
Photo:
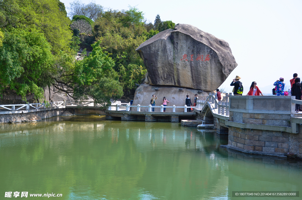
<path fill-rule="evenodd" d="M 148 112 L 152 112 L 152 108 L 160 108 L 160 112 L 163 112 L 164 111 L 164 108 L 172 108 L 172 112 L 175 112 L 176 108 L 184 108 L 184 112 L 187 112 L 187 108 L 196 108 L 196 106 L 164 106 L 164 105 L 161 105 L 161 106 L 152 106 L 152 105 L 147 105 L 147 106 L 144 106 L 144 105 L 129 105 L 127 104 L 126 106 L 124 105 L 110 105 L 108 107 L 108 110 L 113 110 L 112 108 L 115 108 L 114 110 L 116 111 L 120 111 L 120 107 L 126 107 L 126 111 L 137 111 L 137 112 L 140 112 L 140 108 L 148 108 Z M 130 108 L 137 108 L 136 110 L 130 110 Z"/>

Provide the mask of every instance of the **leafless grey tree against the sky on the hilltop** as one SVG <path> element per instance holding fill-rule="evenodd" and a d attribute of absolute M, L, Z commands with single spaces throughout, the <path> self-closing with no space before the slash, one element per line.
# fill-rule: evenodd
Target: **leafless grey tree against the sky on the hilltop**
<path fill-rule="evenodd" d="M 70 3 L 70 7 L 68 9 L 70 10 L 69 17 L 74 15 L 84 15 L 93 21 L 95 21 L 96 18 L 101 16 L 103 13 L 103 6 L 96 4 L 95 2 L 90 2 L 89 4 L 85 5 L 79 0 L 75 0 L 74 2 Z"/>

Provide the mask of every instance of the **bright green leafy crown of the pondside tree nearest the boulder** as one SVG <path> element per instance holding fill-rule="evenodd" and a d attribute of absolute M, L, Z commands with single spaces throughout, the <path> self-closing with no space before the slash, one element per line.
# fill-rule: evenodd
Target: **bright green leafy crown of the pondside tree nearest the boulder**
<path fill-rule="evenodd" d="M 123 89 L 114 71 L 114 61 L 99 46 L 100 42 L 92 45 L 89 56 L 75 65 L 72 76 L 73 97 L 75 99 L 93 98 L 97 103 L 110 103 L 110 98 L 119 98 Z M 84 94 L 84 96 L 83 96 Z"/>

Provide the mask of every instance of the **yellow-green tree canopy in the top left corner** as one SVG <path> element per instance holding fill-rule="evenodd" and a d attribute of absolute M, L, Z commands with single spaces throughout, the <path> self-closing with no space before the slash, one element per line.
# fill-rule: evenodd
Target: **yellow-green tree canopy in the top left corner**
<path fill-rule="evenodd" d="M 60 11 L 58 0 L 2 0 L 0 8 L 5 16 L 3 27 L 8 31 L 34 28 L 44 34 L 53 53 L 69 50 L 71 21 Z"/>

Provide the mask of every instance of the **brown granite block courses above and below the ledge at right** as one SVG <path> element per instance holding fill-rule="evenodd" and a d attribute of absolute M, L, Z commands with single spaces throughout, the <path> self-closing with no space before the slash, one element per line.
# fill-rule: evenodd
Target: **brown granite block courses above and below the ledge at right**
<path fill-rule="evenodd" d="M 238 115 L 242 115 L 242 118 Z M 242 120 L 241 123 L 288 126 L 290 119 L 290 115 L 230 112 L 229 121 Z M 228 147 L 246 153 L 273 156 L 293 153 L 302 158 L 301 125 L 299 125 L 299 133 L 230 127 Z"/>

